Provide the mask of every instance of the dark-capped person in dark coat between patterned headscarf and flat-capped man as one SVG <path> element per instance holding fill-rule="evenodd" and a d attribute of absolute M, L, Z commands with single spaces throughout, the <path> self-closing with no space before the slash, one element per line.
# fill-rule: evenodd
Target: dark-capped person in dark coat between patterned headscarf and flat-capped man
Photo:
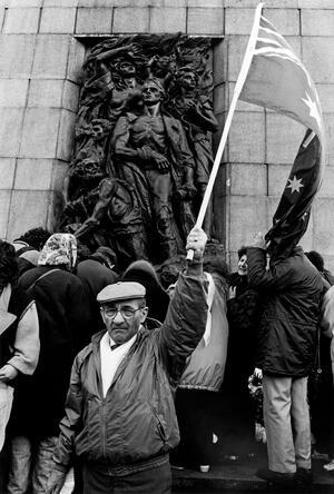
<path fill-rule="evenodd" d="M 108 247 L 100 247 L 88 259 L 77 265 L 77 276 L 80 278 L 89 303 L 89 336 L 104 328 L 104 322 L 97 294 L 107 285 L 116 283 L 119 275 L 112 270 L 116 264 L 116 254 Z M 112 266 L 112 267 L 111 267 Z"/>

